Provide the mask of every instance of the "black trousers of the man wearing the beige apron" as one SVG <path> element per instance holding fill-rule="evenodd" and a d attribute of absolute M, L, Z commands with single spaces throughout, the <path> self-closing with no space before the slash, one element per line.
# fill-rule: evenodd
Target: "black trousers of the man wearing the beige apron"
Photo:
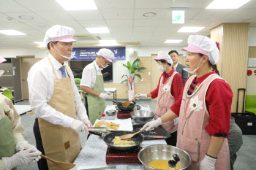
<path fill-rule="evenodd" d="M 34 137 L 36 139 L 36 143 L 37 143 L 37 150 L 39 150 L 40 152 L 42 152 L 42 155 L 45 155 L 45 150 L 44 147 L 42 146 L 42 138 L 41 138 L 41 134 L 39 131 L 39 124 L 38 124 L 38 118 L 36 118 L 36 120 L 34 121 Z M 48 164 L 46 159 L 40 159 L 37 162 L 37 166 L 39 170 L 48 170 Z"/>

